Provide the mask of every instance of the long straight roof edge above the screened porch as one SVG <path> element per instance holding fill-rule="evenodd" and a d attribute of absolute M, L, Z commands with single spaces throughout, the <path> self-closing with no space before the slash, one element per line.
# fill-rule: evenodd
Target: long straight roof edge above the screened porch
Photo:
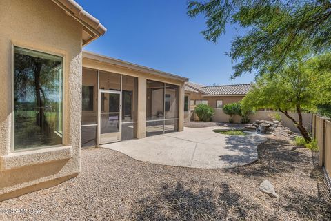
<path fill-rule="evenodd" d="M 182 81 L 182 82 L 187 82 L 188 81 L 188 78 L 186 78 L 186 77 L 181 77 L 179 75 L 173 75 L 173 74 L 170 74 L 170 73 L 165 73 L 161 70 L 155 70 L 153 68 L 140 66 L 138 64 L 132 64 L 128 61 L 122 61 L 120 59 L 114 59 L 112 57 L 99 55 L 99 54 L 96 54 L 96 53 L 93 53 L 93 52 L 83 51 L 83 58 L 92 59 L 92 60 L 98 61 L 99 63 L 111 64 L 113 66 L 119 66 L 119 67 L 122 67 L 122 68 L 129 68 L 131 70 L 139 71 L 139 72 L 146 73 L 146 74 L 152 74 L 152 75 L 157 75 L 157 76 L 161 76 L 161 77 L 165 77 L 165 78 L 169 78 L 169 79 L 174 79 L 176 81 Z"/>

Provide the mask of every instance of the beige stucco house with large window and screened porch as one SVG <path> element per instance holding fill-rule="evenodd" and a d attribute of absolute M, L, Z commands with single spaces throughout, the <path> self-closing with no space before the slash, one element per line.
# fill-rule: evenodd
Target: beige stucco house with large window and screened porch
<path fill-rule="evenodd" d="M 106 28 L 72 0 L 0 1 L 0 200 L 77 176 L 80 151 L 183 131 L 185 77 L 83 52 Z"/>

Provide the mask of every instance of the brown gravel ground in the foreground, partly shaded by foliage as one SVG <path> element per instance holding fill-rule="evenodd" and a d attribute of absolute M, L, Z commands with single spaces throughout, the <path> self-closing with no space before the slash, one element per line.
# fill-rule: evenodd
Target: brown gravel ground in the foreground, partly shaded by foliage
<path fill-rule="evenodd" d="M 267 140 L 259 160 L 234 169 L 139 162 L 109 149 L 81 151 L 81 173 L 58 186 L 0 202 L 0 220 L 331 220 L 330 195 L 312 153 Z M 280 198 L 259 191 L 268 179 Z"/>

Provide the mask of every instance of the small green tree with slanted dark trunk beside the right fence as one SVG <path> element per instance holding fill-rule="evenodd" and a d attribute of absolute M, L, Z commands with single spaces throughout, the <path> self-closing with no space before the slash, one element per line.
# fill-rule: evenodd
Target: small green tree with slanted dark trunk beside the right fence
<path fill-rule="evenodd" d="M 280 111 L 292 120 L 309 143 L 311 138 L 303 126 L 302 112 L 315 111 L 317 105 L 330 102 L 330 67 L 331 54 L 308 60 L 303 57 L 294 59 L 277 75 L 265 73 L 257 77 L 257 84 L 241 104 Z M 298 120 L 289 114 L 290 110 L 297 112 Z"/>

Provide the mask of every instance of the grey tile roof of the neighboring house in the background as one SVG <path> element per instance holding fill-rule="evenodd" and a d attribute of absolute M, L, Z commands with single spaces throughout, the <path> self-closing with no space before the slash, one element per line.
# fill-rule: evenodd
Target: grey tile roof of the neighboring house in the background
<path fill-rule="evenodd" d="M 203 86 L 195 83 L 185 83 L 186 88 L 198 90 L 203 95 L 245 95 L 252 87 L 252 84 L 230 84 L 219 86 Z M 190 91 L 190 89 L 188 91 Z"/>

